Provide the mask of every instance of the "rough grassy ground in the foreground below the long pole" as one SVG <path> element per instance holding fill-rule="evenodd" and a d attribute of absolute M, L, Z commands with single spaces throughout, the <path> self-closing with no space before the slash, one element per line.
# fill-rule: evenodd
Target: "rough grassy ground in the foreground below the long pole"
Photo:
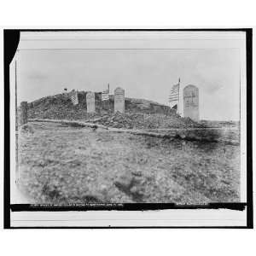
<path fill-rule="evenodd" d="M 20 188 L 38 203 L 239 201 L 240 148 L 31 123 Z"/>

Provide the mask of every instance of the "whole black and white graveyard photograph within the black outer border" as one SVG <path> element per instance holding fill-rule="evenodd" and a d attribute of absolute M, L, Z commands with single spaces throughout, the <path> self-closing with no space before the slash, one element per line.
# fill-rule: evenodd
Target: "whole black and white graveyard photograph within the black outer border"
<path fill-rule="evenodd" d="M 246 227 L 247 36 L 20 31 L 11 226 Z"/>

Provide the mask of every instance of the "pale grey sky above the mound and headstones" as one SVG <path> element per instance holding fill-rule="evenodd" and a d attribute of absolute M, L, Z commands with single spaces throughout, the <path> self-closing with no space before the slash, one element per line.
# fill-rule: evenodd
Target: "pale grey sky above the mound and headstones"
<path fill-rule="evenodd" d="M 239 120 L 238 49 L 21 49 L 18 102 L 67 90 L 125 89 L 126 97 L 168 105 L 172 85 L 199 88 L 200 119 Z"/>

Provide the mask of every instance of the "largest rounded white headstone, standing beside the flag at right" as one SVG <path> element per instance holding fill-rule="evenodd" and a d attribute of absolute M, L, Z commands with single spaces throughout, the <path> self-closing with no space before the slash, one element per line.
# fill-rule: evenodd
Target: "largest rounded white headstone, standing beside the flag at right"
<path fill-rule="evenodd" d="M 189 84 L 183 89 L 183 113 L 194 121 L 199 121 L 199 90 Z"/>

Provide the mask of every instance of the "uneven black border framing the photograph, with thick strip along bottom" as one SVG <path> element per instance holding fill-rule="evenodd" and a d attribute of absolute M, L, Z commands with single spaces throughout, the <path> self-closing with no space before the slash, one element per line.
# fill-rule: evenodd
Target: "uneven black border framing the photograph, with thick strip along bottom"
<path fill-rule="evenodd" d="M 246 64 L 247 64 L 247 203 L 212 203 L 205 206 L 177 206 L 175 204 L 120 204 L 110 207 L 37 207 L 31 205 L 11 205 L 10 204 L 10 88 L 9 88 L 9 63 L 12 61 L 15 51 L 19 44 L 20 32 L 246 32 Z M 230 29 L 12 29 L 3 31 L 4 48 L 4 228 L 253 228 L 253 142 L 252 142 L 252 99 L 253 99 L 253 29 L 252 28 L 230 28 Z M 119 205 L 119 204 L 114 204 Z M 121 210 L 121 211 L 145 211 L 160 209 L 219 209 L 227 208 L 242 211 L 247 207 L 247 226 L 122 226 L 122 227 L 70 227 L 70 226 L 51 226 L 51 227 L 11 227 L 10 211 L 90 211 L 90 210 Z"/>

